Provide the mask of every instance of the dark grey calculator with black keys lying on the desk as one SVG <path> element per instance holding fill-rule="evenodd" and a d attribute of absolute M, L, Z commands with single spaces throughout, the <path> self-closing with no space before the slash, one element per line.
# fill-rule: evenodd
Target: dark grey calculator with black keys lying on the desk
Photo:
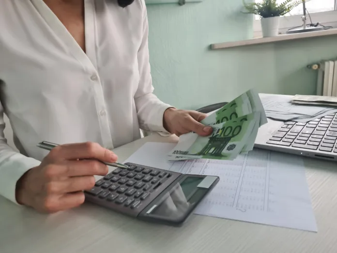
<path fill-rule="evenodd" d="M 219 181 L 218 176 L 181 174 L 125 163 L 84 191 L 86 202 L 139 220 L 181 226 Z"/>

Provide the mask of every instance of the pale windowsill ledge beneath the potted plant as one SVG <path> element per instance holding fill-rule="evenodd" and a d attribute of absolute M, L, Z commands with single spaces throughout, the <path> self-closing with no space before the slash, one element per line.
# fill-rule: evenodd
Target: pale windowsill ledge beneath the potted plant
<path fill-rule="evenodd" d="M 279 41 L 289 41 L 289 40 L 314 38 L 314 37 L 328 36 L 328 35 L 334 35 L 334 34 L 337 34 L 337 29 L 335 29 L 335 28 L 323 30 L 323 31 L 318 31 L 318 32 L 303 32 L 303 33 L 294 33 L 294 34 L 282 34 L 282 35 L 278 35 L 276 37 L 254 38 L 254 39 L 243 40 L 243 41 L 233 41 L 233 42 L 211 44 L 211 49 L 243 47 L 243 46 L 250 46 L 250 45 L 273 43 L 273 42 L 279 42 Z"/>

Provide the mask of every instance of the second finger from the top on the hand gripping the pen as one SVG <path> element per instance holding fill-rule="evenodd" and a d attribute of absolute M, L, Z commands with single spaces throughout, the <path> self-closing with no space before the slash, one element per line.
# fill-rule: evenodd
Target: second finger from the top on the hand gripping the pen
<path fill-rule="evenodd" d="M 61 164 L 46 167 L 46 178 L 106 175 L 107 165 L 97 160 L 63 161 Z"/>

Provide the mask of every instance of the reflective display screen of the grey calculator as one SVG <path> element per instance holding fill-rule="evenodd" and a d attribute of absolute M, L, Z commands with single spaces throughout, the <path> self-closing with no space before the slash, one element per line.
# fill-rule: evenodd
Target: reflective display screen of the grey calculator
<path fill-rule="evenodd" d="M 195 201 L 191 201 L 191 197 L 198 190 L 202 177 L 188 176 L 183 182 L 175 185 L 167 192 L 157 206 L 151 211 L 151 215 L 165 216 L 176 219 L 183 216 Z"/>

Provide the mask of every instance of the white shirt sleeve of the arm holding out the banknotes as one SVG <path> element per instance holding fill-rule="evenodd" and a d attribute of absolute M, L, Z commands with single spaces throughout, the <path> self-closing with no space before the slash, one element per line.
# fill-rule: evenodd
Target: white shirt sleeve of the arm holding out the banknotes
<path fill-rule="evenodd" d="M 143 8 L 143 38 L 138 50 L 139 84 L 135 94 L 139 126 L 147 131 L 157 131 L 162 135 L 168 135 L 168 131 L 163 126 L 163 115 L 166 109 L 172 106 L 163 103 L 153 94 L 148 48 L 149 25 L 144 0 L 141 0 L 141 4 Z"/>

